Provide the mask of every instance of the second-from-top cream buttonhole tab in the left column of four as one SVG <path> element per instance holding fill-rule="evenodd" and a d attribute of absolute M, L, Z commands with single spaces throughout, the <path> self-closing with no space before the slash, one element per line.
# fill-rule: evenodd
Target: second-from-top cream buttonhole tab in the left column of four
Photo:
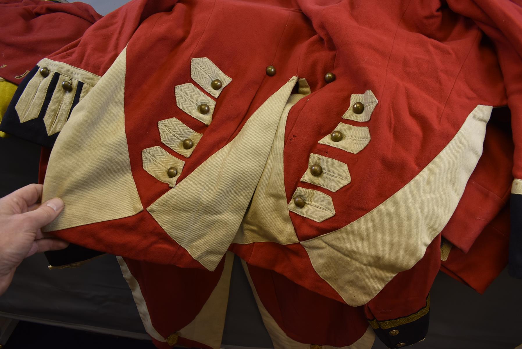
<path fill-rule="evenodd" d="M 176 94 L 176 105 L 185 113 L 199 120 L 205 125 L 210 125 L 212 122 L 212 114 L 214 113 L 214 107 L 216 102 L 208 97 L 205 93 L 201 92 L 192 83 L 184 83 L 174 88 Z M 210 111 L 208 114 L 201 114 L 199 112 L 199 106 L 201 104 L 207 104 Z"/>

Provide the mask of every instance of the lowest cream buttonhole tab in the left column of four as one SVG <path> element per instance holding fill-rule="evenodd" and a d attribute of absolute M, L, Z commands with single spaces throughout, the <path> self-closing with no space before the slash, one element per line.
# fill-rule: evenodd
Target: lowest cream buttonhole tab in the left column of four
<path fill-rule="evenodd" d="M 141 151 L 141 158 L 143 159 L 143 169 L 151 176 L 163 183 L 168 183 L 171 188 L 176 186 L 176 180 L 183 171 L 185 161 L 173 157 L 159 146 L 144 149 Z M 177 175 L 172 178 L 167 175 L 170 167 L 175 167 L 177 170 Z"/>

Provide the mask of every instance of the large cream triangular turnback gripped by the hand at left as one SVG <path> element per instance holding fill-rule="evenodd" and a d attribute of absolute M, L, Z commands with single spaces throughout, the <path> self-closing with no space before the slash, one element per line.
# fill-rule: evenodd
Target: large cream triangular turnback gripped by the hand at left
<path fill-rule="evenodd" d="M 45 231 L 124 218 L 143 210 L 125 135 L 125 55 L 126 49 L 76 105 L 56 139 L 42 199 L 60 197 L 66 208 Z"/>

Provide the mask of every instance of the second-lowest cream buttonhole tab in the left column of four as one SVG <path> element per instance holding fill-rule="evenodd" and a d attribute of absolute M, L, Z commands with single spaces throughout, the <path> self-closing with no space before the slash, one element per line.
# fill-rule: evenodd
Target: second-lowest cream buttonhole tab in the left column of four
<path fill-rule="evenodd" d="M 192 155 L 197 143 L 203 137 L 175 117 L 158 122 L 158 128 L 163 144 L 185 158 Z M 193 146 L 191 149 L 183 148 L 183 140 L 187 138 L 192 139 Z"/>

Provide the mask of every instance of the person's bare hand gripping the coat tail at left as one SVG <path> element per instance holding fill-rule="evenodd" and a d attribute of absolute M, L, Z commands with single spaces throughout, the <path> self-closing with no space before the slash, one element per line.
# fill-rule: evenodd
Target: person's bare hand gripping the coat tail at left
<path fill-rule="evenodd" d="M 68 245 L 41 231 L 64 208 L 59 198 L 40 203 L 42 188 L 40 184 L 30 184 L 0 199 L 0 295 L 7 290 L 24 258 Z"/>

